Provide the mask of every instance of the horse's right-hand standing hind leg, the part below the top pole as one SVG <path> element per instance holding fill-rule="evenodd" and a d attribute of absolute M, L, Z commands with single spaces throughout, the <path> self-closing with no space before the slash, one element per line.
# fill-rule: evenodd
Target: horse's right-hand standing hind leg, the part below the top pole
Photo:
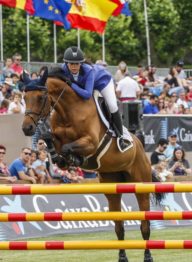
<path fill-rule="evenodd" d="M 140 211 L 149 211 L 150 210 L 150 199 L 149 194 L 135 194 L 137 197 L 137 201 L 139 204 Z M 150 221 L 142 220 L 141 221 L 141 233 L 144 240 L 149 240 L 150 237 Z M 151 256 L 151 252 L 149 249 L 145 249 L 144 252 L 144 262 L 153 262 L 153 258 Z"/>

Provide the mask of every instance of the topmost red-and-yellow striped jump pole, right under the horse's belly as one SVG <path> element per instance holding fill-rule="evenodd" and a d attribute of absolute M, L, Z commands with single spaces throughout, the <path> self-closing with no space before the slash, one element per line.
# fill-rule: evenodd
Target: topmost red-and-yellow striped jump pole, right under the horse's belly
<path fill-rule="evenodd" d="M 119 194 L 192 192 L 192 182 L 123 183 L 123 184 L 60 184 L 0 186 L 0 195 L 17 194 Z"/>

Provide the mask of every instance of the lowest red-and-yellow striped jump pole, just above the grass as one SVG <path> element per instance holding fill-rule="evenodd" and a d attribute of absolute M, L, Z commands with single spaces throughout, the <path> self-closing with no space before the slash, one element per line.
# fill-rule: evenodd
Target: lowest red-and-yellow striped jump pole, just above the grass
<path fill-rule="evenodd" d="M 1 241 L 0 250 L 192 249 L 192 240 Z"/>

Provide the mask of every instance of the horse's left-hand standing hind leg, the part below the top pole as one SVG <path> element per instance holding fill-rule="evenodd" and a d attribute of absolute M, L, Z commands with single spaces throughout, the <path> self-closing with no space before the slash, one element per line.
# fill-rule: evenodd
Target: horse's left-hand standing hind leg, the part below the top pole
<path fill-rule="evenodd" d="M 121 211 L 121 196 L 122 194 L 105 194 L 109 202 L 109 211 Z M 115 222 L 115 233 L 118 240 L 124 240 L 125 229 L 123 221 L 114 221 Z M 128 258 L 125 253 L 125 249 L 119 250 L 119 260 L 118 262 L 128 262 Z"/>

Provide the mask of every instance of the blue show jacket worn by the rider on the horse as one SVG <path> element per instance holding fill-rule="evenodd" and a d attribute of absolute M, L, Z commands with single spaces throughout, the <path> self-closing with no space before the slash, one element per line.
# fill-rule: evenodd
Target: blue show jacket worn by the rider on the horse
<path fill-rule="evenodd" d="M 62 64 L 62 69 L 65 72 L 64 76 L 74 81 L 74 77 L 65 63 Z M 72 83 L 71 88 L 73 88 L 78 95 L 89 100 L 92 96 L 93 89 L 100 92 L 109 84 L 111 74 L 105 69 L 102 65 L 91 66 L 83 63 L 79 70 L 77 84 Z M 85 90 L 79 87 L 78 84 L 79 86 L 83 86 Z"/>

